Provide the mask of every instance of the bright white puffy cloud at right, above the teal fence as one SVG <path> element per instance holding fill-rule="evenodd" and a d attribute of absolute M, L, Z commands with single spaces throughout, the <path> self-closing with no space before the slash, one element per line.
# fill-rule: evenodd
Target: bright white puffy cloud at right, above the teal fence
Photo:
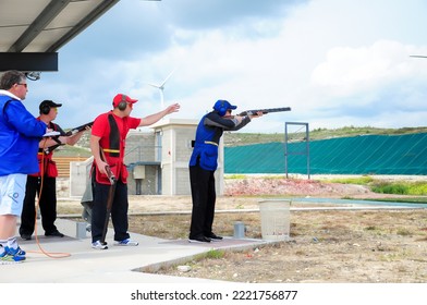
<path fill-rule="evenodd" d="M 346 96 L 386 86 L 418 70 L 404 45 L 381 40 L 369 47 L 331 49 L 326 62 L 314 70 L 312 81 L 330 95 Z"/>

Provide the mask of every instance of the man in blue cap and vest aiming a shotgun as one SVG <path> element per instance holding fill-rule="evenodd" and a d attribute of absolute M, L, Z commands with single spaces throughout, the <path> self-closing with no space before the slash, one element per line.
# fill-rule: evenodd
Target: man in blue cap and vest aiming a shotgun
<path fill-rule="evenodd" d="M 194 150 L 190 159 L 190 183 L 192 188 L 193 210 L 188 242 L 210 243 L 222 237 L 212 232 L 215 203 L 215 171 L 218 167 L 218 146 L 224 131 L 237 131 L 256 115 L 231 115 L 236 109 L 227 100 L 218 100 L 213 111 L 205 114 L 196 130 Z"/>

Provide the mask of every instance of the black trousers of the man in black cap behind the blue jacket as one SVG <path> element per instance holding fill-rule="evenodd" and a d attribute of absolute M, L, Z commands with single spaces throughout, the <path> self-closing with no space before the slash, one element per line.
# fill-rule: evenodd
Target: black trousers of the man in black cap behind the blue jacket
<path fill-rule="evenodd" d="M 25 198 L 21 215 L 20 234 L 32 235 L 36 223 L 36 195 L 40 196 L 41 178 L 27 176 Z M 45 176 L 42 180 L 41 196 L 38 202 L 41 215 L 41 225 L 45 233 L 57 231 L 57 179 Z"/>

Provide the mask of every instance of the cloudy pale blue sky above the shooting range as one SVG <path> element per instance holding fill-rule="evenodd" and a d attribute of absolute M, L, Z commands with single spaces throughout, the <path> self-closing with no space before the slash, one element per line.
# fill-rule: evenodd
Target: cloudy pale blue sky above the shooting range
<path fill-rule="evenodd" d="M 171 118 L 198 120 L 217 99 L 239 110 L 291 107 L 242 132 L 425 126 L 427 2 L 424 0 L 122 0 L 59 50 L 59 72 L 30 82 L 26 106 L 62 102 L 72 127 L 139 99 L 132 115 L 181 103 Z M 29 82 L 29 81 L 28 81 Z"/>

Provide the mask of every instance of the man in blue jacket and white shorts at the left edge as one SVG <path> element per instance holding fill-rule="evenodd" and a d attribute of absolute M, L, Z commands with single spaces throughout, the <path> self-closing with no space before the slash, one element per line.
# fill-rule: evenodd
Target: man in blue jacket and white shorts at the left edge
<path fill-rule="evenodd" d="M 7 71 L 0 78 L 0 265 L 25 260 L 16 242 L 28 173 L 38 172 L 38 142 L 48 131 L 24 107 L 25 74 Z"/>

